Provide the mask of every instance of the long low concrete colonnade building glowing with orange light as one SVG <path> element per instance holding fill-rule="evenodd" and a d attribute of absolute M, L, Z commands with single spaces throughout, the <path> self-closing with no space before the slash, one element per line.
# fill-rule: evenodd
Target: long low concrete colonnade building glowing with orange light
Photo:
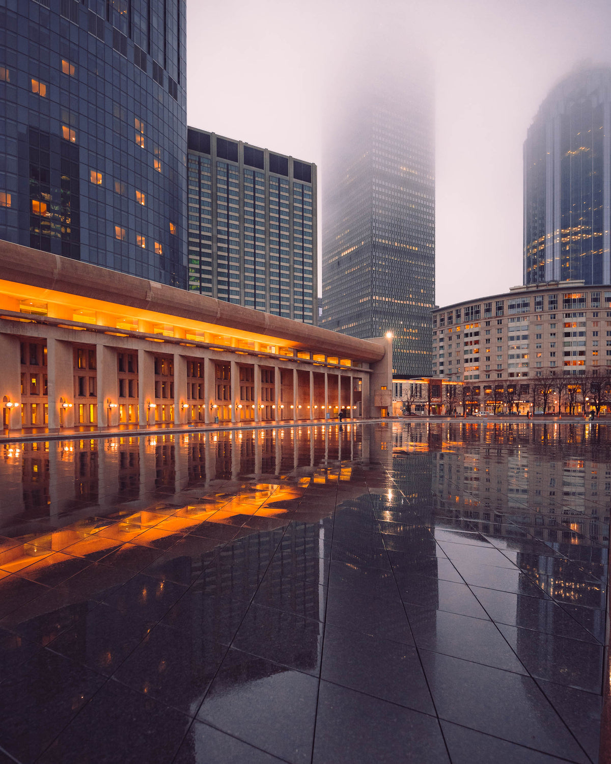
<path fill-rule="evenodd" d="M 383 416 L 392 340 L 0 242 L 9 430 Z"/>

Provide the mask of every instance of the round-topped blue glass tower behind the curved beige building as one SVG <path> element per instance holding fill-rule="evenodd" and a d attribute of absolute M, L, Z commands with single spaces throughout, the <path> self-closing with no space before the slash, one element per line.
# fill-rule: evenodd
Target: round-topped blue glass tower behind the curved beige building
<path fill-rule="evenodd" d="M 524 283 L 611 283 L 611 68 L 558 83 L 524 142 Z"/>

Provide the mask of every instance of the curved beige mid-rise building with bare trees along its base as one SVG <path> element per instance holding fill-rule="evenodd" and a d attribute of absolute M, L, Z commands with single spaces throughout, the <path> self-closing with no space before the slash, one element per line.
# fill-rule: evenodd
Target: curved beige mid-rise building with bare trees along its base
<path fill-rule="evenodd" d="M 512 406 L 522 413 L 532 411 L 533 403 L 541 407 L 533 401 L 541 388 L 533 384 L 538 377 L 551 388 L 548 409 L 558 410 L 554 377 L 564 377 L 564 411 L 571 384 L 579 381 L 570 377 L 600 377 L 611 367 L 610 318 L 611 288 L 583 281 L 516 286 L 454 303 L 433 311 L 433 373 L 464 381 L 482 410 L 507 408 L 511 385 Z M 574 404 L 583 410 L 578 392 Z"/>

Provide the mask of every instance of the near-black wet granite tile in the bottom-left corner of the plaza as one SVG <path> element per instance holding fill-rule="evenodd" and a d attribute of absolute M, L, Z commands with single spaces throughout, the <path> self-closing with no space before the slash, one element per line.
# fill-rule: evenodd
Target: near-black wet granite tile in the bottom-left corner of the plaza
<path fill-rule="evenodd" d="M 0 740 L 20 762 L 33 762 L 105 682 L 47 649 L 3 675 Z"/>

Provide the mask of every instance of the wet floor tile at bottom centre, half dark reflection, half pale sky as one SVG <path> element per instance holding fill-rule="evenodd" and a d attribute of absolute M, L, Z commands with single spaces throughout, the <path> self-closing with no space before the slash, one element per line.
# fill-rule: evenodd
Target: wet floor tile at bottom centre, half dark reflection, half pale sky
<path fill-rule="evenodd" d="M 318 681 L 231 649 L 198 718 L 294 764 L 312 756 Z"/>

